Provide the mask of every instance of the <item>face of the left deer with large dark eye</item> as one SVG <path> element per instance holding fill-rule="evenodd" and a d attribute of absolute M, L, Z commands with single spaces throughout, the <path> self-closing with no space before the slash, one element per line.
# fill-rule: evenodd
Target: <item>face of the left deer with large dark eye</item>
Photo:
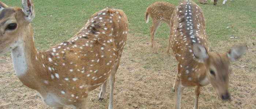
<path fill-rule="evenodd" d="M 26 2 L 26 3 L 25 3 Z M 11 51 L 22 43 L 31 31 L 30 21 L 34 17 L 33 5 L 22 1 L 22 8 L 8 7 L 0 1 L 0 55 Z M 30 8 L 28 8 L 30 6 Z M 25 13 L 24 10 L 27 13 Z M 30 15 L 27 15 L 30 13 Z M 32 16 L 32 17 L 31 17 Z"/>

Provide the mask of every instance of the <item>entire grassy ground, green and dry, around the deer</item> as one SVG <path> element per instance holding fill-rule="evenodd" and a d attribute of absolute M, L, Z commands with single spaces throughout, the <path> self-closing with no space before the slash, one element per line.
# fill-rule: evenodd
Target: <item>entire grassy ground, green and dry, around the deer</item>
<path fill-rule="evenodd" d="M 9 6 L 21 7 L 21 1 L 1 0 Z M 170 109 L 174 106 L 172 86 L 177 73 L 177 61 L 172 51 L 165 54 L 169 28 L 162 24 L 155 41 L 158 54 L 150 47 L 150 26 L 145 23 L 145 11 L 156 0 L 33 0 L 36 16 L 32 21 L 38 50 L 68 40 L 93 13 L 112 7 L 122 9 L 129 20 L 128 42 L 116 74 L 114 108 Z M 177 5 L 182 0 L 163 0 Z M 256 1 L 233 0 L 216 6 L 197 3 L 204 13 L 208 47 L 211 53 L 225 53 L 237 44 L 246 44 L 248 51 L 231 63 L 231 100 L 222 101 L 211 85 L 201 88 L 200 109 L 256 109 Z M 234 37 L 231 39 L 230 37 Z M 99 102 L 100 88 L 88 97 L 87 109 L 107 109 L 106 97 Z M 185 88 L 182 109 L 192 109 L 193 88 Z M 0 57 L 0 109 L 51 109 L 15 76 L 10 53 Z M 66 107 L 65 109 L 71 109 Z"/>

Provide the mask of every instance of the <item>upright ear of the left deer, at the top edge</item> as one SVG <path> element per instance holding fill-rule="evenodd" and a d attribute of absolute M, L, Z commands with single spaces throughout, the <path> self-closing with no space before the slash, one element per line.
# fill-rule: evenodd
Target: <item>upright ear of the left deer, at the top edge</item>
<path fill-rule="evenodd" d="M 32 0 L 22 0 L 22 11 L 25 14 L 25 20 L 31 22 L 35 17 L 35 9 Z"/>

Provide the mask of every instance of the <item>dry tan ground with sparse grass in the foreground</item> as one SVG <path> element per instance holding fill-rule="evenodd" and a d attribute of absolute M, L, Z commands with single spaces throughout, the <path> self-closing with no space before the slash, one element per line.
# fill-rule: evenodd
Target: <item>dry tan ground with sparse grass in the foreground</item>
<path fill-rule="evenodd" d="M 177 62 L 170 51 L 165 54 L 167 39 L 158 39 L 158 54 L 153 54 L 149 36 L 134 37 L 129 34 L 116 74 L 114 108 L 116 109 L 170 109 L 174 106 L 172 86 L 177 73 Z M 210 52 L 224 53 L 234 44 L 220 42 Z M 256 109 L 255 46 L 248 42 L 248 51 L 239 61 L 232 62 L 230 74 L 231 100 L 222 101 L 211 85 L 201 88 L 200 109 Z M 0 57 L 0 109 L 51 109 L 44 104 L 34 90 L 24 86 L 16 77 L 10 56 Z M 251 67 L 252 66 L 252 67 Z M 194 88 L 185 88 L 182 109 L 192 109 L 195 101 Z M 87 109 L 107 109 L 109 87 L 106 97 L 99 102 L 100 87 L 88 97 Z M 71 109 L 66 107 L 65 109 Z"/>

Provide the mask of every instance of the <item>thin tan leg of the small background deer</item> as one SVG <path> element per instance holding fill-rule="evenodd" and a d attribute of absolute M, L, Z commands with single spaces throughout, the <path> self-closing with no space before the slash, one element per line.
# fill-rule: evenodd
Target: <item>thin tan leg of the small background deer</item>
<path fill-rule="evenodd" d="M 153 45 L 153 51 L 154 53 L 157 53 L 157 48 L 155 46 L 155 33 L 157 32 L 157 28 L 159 27 L 159 25 L 161 24 L 161 22 L 153 22 L 153 28 L 151 28 L 151 42 Z"/>

